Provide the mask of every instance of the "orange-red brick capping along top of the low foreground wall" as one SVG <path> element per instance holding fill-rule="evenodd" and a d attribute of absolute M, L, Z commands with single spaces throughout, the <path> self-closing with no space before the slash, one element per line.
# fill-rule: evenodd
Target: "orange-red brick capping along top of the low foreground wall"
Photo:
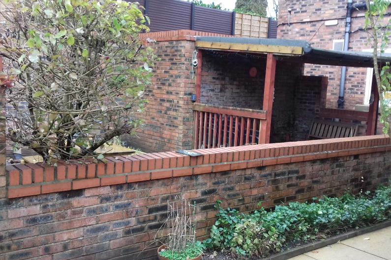
<path fill-rule="evenodd" d="M 85 164 L 79 163 L 80 167 L 78 168 L 84 169 L 82 176 L 76 175 L 75 164 L 67 162 L 60 162 L 57 167 L 44 166 L 39 169 L 37 165 L 30 163 L 7 165 L 8 198 L 386 152 L 391 151 L 391 143 L 388 135 L 372 135 L 194 151 L 201 151 L 202 155 L 190 157 L 175 152 L 166 152 L 143 154 L 143 156 L 121 156 L 120 159 L 111 158 L 108 163 L 96 163 L 96 167 L 95 165 L 88 167 L 87 176 L 85 174 L 86 167 L 83 166 L 90 165 L 89 161 L 86 161 Z M 162 163 L 155 163 L 159 157 L 163 158 Z M 184 163 L 184 161 L 188 163 Z M 124 165 L 127 165 L 125 172 L 122 171 L 125 169 Z M 61 168 L 62 172 L 67 173 L 65 179 L 63 174 L 52 175 L 54 172 L 59 173 L 59 167 L 65 167 L 65 171 Z M 44 169 L 45 181 L 42 181 L 42 169 Z"/>

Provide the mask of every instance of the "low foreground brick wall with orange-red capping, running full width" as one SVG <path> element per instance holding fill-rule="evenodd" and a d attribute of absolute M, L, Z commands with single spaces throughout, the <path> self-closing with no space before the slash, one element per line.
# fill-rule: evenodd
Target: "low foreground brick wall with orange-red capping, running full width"
<path fill-rule="evenodd" d="M 390 139 L 364 136 L 7 167 L 1 259 L 155 259 L 167 201 L 195 201 L 200 239 L 216 200 L 247 212 L 387 183 Z M 1 188 L 4 190 L 4 188 Z M 158 236 L 164 234 L 158 233 Z M 143 251 L 144 249 L 144 251 Z"/>

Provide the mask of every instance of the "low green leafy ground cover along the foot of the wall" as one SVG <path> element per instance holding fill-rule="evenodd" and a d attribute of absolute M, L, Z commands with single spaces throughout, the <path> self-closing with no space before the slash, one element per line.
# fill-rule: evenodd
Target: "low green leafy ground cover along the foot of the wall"
<path fill-rule="evenodd" d="M 313 198 L 312 203 L 290 203 L 264 208 L 251 214 L 223 209 L 211 227 L 211 238 L 203 245 L 211 249 L 230 249 L 240 257 L 266 256 L 281 251 L 286 241 L 326 238 L 341 230 L 362 227 L 391 218 L 391 186 L 380 187 L 373 197 L 346 193 L 340 198 Z"/>

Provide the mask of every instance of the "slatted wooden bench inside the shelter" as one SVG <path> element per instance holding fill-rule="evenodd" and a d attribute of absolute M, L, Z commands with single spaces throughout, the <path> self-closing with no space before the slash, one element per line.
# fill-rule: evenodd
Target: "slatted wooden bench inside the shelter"
<path fill-rule="evenodd" d="M 353 137 L 356 136 L 358 129 L 359 126 L 354 124 L 314 120 L 309 130 L 308 139 Z"/>

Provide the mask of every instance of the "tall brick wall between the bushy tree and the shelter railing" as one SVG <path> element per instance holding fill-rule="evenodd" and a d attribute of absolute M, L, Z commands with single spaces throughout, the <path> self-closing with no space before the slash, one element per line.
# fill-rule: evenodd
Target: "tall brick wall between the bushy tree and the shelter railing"
<path fill-rule="evenodd" d="M 190 101 L 195 93 L 190 78 L 194 41 L 159 41 L 148 44 L 158 56 L 151 85 L 145 89 L 148 104 L 140 115 L 144 126 L 128 145 L 145 152 L 191 149 L 193 111 Z"/>

